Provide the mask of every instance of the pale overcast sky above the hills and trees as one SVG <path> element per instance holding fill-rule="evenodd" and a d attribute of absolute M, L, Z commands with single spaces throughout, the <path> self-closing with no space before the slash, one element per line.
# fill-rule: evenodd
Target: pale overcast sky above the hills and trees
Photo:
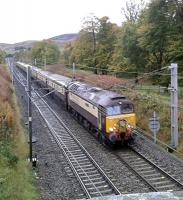
<path fill-rule="evenodd" d="M 0 0 L 0 43 L 77 33 L 90 13 L 121 25 L 124 5 L 125 0 Z"/>

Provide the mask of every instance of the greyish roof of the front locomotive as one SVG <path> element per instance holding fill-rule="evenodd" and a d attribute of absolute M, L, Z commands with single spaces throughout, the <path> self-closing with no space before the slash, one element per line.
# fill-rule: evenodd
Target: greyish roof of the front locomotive
<path fill-rule="evenodd" d="M 126 96 L 81 82 L 71 83 L 69 89 L 79 96 L 103 107 L 130 102 Z"/>

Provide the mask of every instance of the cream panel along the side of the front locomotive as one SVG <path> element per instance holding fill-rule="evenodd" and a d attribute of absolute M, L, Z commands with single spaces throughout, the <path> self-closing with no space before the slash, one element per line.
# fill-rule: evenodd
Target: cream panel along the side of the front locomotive
<path fill-rule="evenodd" d="M 93 106 L 88 101 L 85 101 L 73 93 L 69 93 L 69 99 L 98 118 L 98 108 L 96 106 Z"/>

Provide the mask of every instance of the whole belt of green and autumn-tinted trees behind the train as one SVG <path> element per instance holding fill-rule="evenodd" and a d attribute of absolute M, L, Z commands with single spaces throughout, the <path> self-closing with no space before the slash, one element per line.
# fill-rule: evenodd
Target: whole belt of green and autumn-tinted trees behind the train
<path fill-rule="evenodd" d="M 108 16 L 87 16 L 77 37 L 62 49 L 60 58 L 51 41 L 38 42 L 15 57 L 26 63 L 36 59 L 39 67 L 45 60 L 47 64 L 74 62 L 95 74 L 125 78 L 155 70 L 151 81 L 166 87 L 170 72 L 164 67 L 177 63 L 179 86 L 183 86 L 183 1 L 149 0 L 145 4 L 144 0 L 128 0 L 120 10 L 120 26 Z"/>

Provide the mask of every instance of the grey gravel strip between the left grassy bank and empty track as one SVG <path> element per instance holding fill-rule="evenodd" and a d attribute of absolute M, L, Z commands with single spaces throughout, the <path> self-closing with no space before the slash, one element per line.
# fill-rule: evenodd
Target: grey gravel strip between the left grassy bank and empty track
<path fill-rule="evenodd" d="M 27 122 L 27 97 L 20 84 L 16 84 L 23 122 Z M 53 140 L 44 120 L 33 107 L 33 155 L 38 155 L 35 169 L 36 182 L 41 200 L 79 199 L 83 191 L 70 170 L 65 157 Z"/>

